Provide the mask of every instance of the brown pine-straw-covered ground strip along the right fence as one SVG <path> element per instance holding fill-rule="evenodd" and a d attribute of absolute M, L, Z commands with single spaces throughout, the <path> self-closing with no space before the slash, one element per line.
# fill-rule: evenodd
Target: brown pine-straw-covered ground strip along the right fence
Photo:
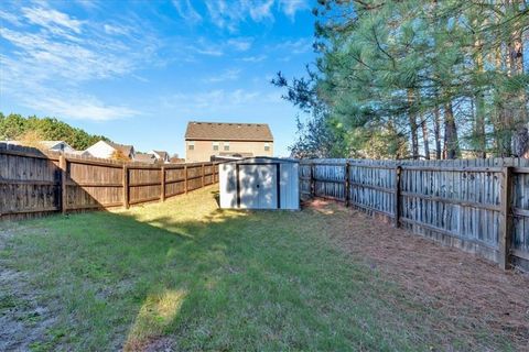
<path fill-rule="evenodd" d="M 440 331 L 473 334 L 475 327 L 485 327 L 508 336 L 514 349 L 529 351 L 528 274 L 505 272 L 336 202 L 313 200 L 304 206 L 346 217 L 347 221 L 330 217 L 327 234 L 396 282 L 411 299 L 449 316 L 453 323 L 439 327 Z"/>

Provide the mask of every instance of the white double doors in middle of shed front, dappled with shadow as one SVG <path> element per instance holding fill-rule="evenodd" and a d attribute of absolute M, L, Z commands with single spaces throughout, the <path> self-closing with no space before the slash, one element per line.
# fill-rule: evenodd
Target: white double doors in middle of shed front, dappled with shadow
<path fill-rule="evenodd" d="M 276 165 L 239 165 L 240 208 L 276 209 Z"/>

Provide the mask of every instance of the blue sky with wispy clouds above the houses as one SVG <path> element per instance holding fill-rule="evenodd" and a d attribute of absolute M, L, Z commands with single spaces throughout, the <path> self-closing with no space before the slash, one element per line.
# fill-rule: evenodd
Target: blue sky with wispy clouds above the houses
<path fill-rule="evenodd" d="M 310 0 L 2 1 L 0 111 L 56 117 L 183 155 L 186 122 L 267 122 L 287 155 L 299 113 L 269 84 L 314 62 Z"/>

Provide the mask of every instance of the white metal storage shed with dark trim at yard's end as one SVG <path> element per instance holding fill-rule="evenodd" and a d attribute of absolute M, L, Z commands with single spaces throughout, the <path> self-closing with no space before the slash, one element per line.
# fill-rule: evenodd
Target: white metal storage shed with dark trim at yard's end
<path fill-rule="evenodd" d="M 298 166 L 298 161 L 274 157 L 220 164 L 220 208 L 299 210 Z"/>

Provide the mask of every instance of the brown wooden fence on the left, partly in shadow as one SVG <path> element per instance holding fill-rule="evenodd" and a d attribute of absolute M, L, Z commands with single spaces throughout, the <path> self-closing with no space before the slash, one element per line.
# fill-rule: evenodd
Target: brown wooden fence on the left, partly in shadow
<path fill-rule="evenodd" d="M 217 182 L 216 163 L 122 163 L 0 143 L 1 219 L 128 208 Z"/>

